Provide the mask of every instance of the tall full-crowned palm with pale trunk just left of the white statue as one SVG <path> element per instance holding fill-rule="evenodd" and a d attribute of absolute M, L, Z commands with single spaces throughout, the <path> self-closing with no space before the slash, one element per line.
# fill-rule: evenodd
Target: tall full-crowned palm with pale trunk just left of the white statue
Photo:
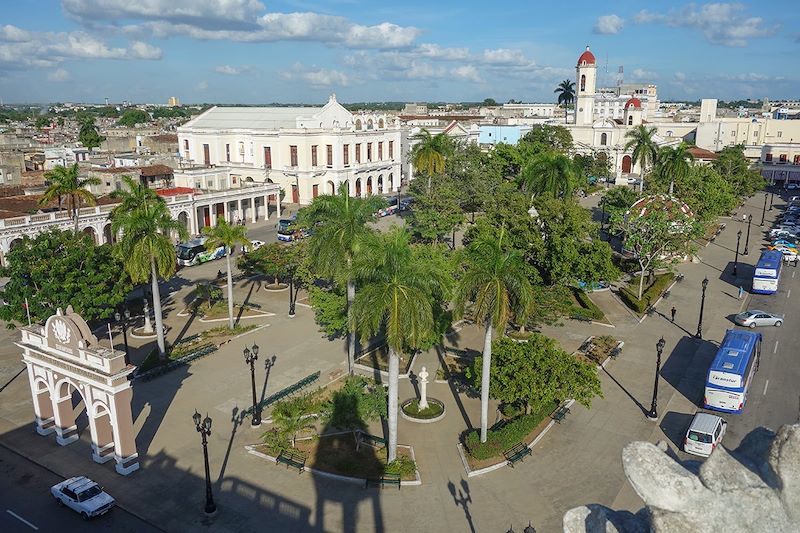
<path fill-rule="evenodd" d="M 363 335 L 383 331 L 389 346 L 388 460 L 397 458 L 399 354 L 415 348 L 434 328 L 432 294 L 441 276 L 424 261 L 414 261 L 408 232 L 393 227 L 373 235 L 359 251 L 355 271 L 364 285 L 350 320 Z"/>

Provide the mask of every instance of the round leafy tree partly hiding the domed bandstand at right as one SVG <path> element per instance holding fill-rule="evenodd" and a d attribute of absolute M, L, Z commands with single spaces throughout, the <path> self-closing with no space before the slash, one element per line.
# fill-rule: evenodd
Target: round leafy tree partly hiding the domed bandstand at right
<path fill-rule="evenodd" d="M 650 203 L 636 212 L 612 218 L 612 224 L 625 233 L 625 248 L 633 252 L 639 262 L 639 300 L 647 271 L 684 250 L 699 230 L 694 217 L 684 213 L 681 207 L 680 203 L 659 195 L 651 197 Z"/>

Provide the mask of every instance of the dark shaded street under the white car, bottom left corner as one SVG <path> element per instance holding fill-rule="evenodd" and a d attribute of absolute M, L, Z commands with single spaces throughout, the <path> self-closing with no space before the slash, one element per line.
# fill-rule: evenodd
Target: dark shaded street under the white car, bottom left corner
<path fill-rule="evenodd" d="M 32 461 L 0 446 L 0 531 L 160 531 L 116 507 L 107 514 L 84 522 L 77 513 L 58 507 L 50 487 L 63 479 Z M 112 496 L 125 497 L 125 495 Z"/>

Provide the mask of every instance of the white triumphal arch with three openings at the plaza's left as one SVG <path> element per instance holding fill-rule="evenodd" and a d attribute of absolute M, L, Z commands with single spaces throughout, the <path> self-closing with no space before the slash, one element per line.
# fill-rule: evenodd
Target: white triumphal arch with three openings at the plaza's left
<path fill-rule="evenodd" d="M 72 306 L 66 313 L 58 309 L 44 327 L 34 324 L 20 330 L 22 338 L 16 344 L 28 367 L 36 431 L 55 432 L 62 446 L 78 440 L 73 403 L 77 392 L 89 418 L 92 458 L 98 463 L 114 459 L 122 475 L 138 469 L 128 379 L 135 367 L 125 362 L 125 353 L 101 346 Z"/>

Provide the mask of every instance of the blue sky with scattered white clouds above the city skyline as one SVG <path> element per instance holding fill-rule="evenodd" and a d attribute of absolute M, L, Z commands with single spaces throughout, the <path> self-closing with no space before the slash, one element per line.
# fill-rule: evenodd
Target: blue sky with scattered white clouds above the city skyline
<path fill-rule="evenodd" d="M 646 7 L 645 7 L 646 6 Z M 4 103 L 552 102 L 598 85 L 800 98 L 800 2 L 0 0 Z"/>

